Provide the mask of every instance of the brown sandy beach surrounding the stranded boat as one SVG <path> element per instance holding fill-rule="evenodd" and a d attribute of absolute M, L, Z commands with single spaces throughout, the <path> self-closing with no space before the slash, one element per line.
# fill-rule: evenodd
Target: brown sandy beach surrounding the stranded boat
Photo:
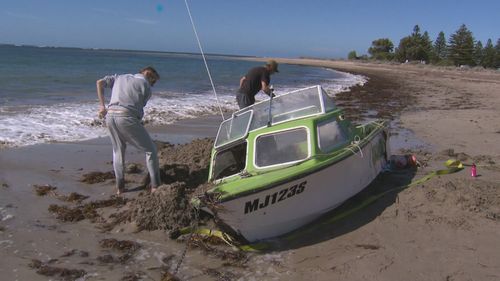
<path fill-rule="evenodd" d="M 422 165 L 377 178 L 367 194 L 421 178 L 450 158 L 475 163 L 478 177 L 471 177 L 470 166 L 434 177 L 341 221 L 317 222 L 293 242 L 278 239 L 279 246 L 263 253 L 194 241 L 184 255 L 185 239 L 170 239 L 168 229 L 147 230 L 130 217 L 121 219 L 134 210 L 133 200 L 156 202 L 142 187 L 144 159 L 137 151 L 127 154 L 134 164 L 129 192 L 117 198 L 105 175 L 112 171 L 107 138 L 4 148 L 2 280 L 172 280 L 165 272 L 180 280 L 500 279 L 500 72 L 276 60 L 368 77 L 365 85 L 337 94 L 337 104 L 355 121 L 391 120 L 393 154 L 415 154 Z M 190 181 L 193 166 L 203 172 L 209 141 L 190 142 L 213 138 L 219 122 L 211 116 L 148 128 L 155 140 L 185 145 L 159 144 L 171 186 L 177 178 Z M 103 179 L 82 182 L 90 172 Z M 81 219 L 59 216 L 62 206 L 82 206 Z M 136 209 L 135 218 L 148 211 Z"/>

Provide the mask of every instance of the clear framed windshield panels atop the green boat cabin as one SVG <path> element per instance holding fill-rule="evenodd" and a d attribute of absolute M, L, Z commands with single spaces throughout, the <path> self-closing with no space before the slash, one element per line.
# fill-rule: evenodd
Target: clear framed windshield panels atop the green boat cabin
<path fill-rule="evenodd" d="M 271 103 L 271 118 L 269 104 Z M 307 116 L 321 114 L 335 109 L 333 99 L 321 86 L 308 87 L 261 101 L 233 114 L 224 121 L 215 140 L 215 147 L 240 140 L 249 131 L 271 124 L 281 123 Z M 269 120 L 271 119 L 271 120 Z"/>

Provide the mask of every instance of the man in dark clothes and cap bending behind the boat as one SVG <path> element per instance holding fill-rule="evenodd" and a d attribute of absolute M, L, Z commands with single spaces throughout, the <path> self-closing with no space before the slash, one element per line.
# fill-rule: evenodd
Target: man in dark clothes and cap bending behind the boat
<path fill-rule="evenodd" d="M 240 109 L 255 103 L 255 95 L 263 91 L 271 96 L 272 90 L 269 88 L 271 75 L 278 71 L 278 63 L 270 60 L 265 66 L 254 67 L 240 79 L 240 89 L 236 95 L 236 101 Z"/>

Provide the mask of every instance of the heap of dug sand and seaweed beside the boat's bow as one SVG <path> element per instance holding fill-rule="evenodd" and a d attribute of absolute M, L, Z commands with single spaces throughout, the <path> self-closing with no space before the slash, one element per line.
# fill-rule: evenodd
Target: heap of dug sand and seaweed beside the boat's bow
<path fill-rule="evenodd" d="M 207 184 L 213 139 L 195 139 L 173 145 L 156 142 L 162 186 L 131 202 L 131 221 L 139 230 L 175 230 L 192 224 L 195 211 L 191 198 L 210 188 Z M 150 182 L 149 175 L 143 180 Z"/>

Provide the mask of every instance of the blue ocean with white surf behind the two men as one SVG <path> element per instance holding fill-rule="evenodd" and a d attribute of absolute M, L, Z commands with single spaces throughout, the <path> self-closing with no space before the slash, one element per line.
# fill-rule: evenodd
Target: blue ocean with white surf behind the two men
<path fill-rule="evenodd" d="M 240 77 L 263 63 L 222 55 L 206 58 L 223 110 L 237 110 Z M 0 146 L 106 136 L 97 118 L 96 80 L 137 73 L 148 65 L 161 76 L 145 108 L 148 124 L 219 114 L 199 54 L 0 45 Z M 366 82 L 363 76 L 320 67 L 280 64 L 279 71 L 271 77 L 277 95 L 317 84 L 334 95 Z M 107 101 L 110 94 L 106 89 Z"/>

